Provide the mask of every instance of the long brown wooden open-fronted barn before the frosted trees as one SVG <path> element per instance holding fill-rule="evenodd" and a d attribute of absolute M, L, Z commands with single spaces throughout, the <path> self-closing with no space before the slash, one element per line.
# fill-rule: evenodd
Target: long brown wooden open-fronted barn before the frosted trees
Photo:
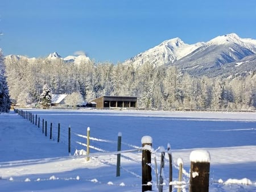
<path fill-rule="evenodd" d="M 137 97 L 131 96 L 107 96 L 96 98 L 91 102 L 96 103 L 96 108 L 130 108 L 137 107 Z"/>

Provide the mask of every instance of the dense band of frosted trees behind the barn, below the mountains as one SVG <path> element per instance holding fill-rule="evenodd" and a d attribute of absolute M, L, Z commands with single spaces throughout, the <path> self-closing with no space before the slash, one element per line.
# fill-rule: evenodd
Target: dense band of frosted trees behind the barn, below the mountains
<path fill-rule="evenodd" d="M 138 97 L 138 107 L 200 108 L 246 110 L 256 108 L 256 74 L 232 78 L 193 77 L 175 66 L 155 68 L 145 63 L 114 65 L 110 62 L 61 59 L 28 60 L 6 57 L 6 74 L 10 95 L 17 103 L 39 101 L 43 86 L 53 94 L 79 92 L 85 101 L 102 95 Z"/>

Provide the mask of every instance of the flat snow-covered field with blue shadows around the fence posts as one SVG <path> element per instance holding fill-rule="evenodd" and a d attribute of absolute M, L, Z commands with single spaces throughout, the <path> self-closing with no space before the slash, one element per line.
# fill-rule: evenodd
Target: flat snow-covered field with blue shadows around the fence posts
<path fill-rule="evenodd" d="M 0 191 L 141 191 L 141 152 L 121 156 L 121 176 L 115 177 L 117 136 L 122 133 L 122 151 L 141 147 L 142 136 L 158 147 L 171 144 L 173 180 L 177 181 L 177 158 L 183 158 L 183 180 L 189 185 L 189 155 L 194 149 L 210 153 L 209 191 L 256 191 L 256 114 L 170 111 L 57 111 L 27 110 L 40 117 L 40 128 L 13 111 L 0 114 Z M 47 121 L 47 136 L 42 133 Z M 49 139 L 52 123 L 53 139 Z M 60 123 L 60 143 L 57 124 Z M 71 127 L 71 154 L 68 127 Z M 74 156 L 86 150 L 90 127 L 90 157 Z M 152 160 L 153 162 L 153 160 Z M 168 156 L 164 169 L 168 191 Z M 156 186 L 155 166 L 152 182 Z M 176 191 L 176 188 L 174 189 Z"/>

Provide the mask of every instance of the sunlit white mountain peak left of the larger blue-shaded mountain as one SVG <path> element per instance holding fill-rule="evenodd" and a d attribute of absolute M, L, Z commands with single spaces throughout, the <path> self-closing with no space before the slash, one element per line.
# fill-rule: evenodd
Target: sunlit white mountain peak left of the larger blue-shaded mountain
<path fill-rule="evenodd" d="M 201 47 L 204 43 L 185 44 L 181 39 L 174 38 L 163 41 L 154 48 L 148 49 L 143 53 L 123 62 L 125 65 L 132 64 L 135 68 L 143 65 L 144 63 L 151 63 L 154 66 L 161 66 L 164 64 L 172 64 L 176 60 L 193 52 L 195 49 Z"/>

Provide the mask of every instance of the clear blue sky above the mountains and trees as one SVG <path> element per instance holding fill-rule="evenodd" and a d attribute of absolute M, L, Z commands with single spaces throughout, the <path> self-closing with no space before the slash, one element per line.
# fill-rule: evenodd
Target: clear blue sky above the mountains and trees
<path fill-rule="evenodd" d="M 255 0 L 1 0 L 0 19 L 3 54 L 29 57 L 82 51 L 117 63 L 175 37 L 256 39 Z"/>

